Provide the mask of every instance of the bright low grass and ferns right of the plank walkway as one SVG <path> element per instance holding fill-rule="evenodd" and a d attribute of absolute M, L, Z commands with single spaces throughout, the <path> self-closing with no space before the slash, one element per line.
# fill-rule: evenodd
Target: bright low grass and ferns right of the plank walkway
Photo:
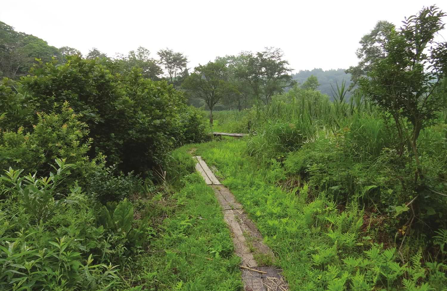
<path fill-rule="evenodd" d="M 217 168 L 274 251 L 291 290 L 446 290 L 445 265 L 423 258 L 421 248 L 403 262 L 399 245 L 376 236 L 377 221 L 358 203 L 340 209 L 332 195 L 309 184 L 284 187 L 283 165 L 258 164 L 246 139 L 181 150 Z"/>

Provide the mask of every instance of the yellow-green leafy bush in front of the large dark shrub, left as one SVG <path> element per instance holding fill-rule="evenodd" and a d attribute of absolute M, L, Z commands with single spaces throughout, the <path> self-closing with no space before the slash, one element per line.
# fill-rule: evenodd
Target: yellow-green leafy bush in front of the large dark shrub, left
<path fill-rule="evenodd" d="M 102 156 L 89 160 L 92 140 L 87 138 L 89 130 L 79 121 L 80 115 L 67 102 L 52 108 L 59 113 L 38 113 L 37 123 L 30 130 L 19 127 L 17 131 L 0 131 L 0 168 L 45 176 L 56 158 L 66 159 L 67 164 L 76 165 L 72 169 L 75 180 L 104 163 Z"/>

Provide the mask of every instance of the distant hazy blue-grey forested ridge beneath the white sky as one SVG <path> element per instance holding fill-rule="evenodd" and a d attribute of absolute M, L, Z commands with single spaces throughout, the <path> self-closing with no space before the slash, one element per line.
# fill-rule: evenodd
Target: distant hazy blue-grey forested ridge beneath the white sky
<path fill-rule="evenodd" d="M 346 74 L 345 69 L 332 69 L 332 70 L 322 70 L 320 68 L 315 68 L 313 70 L 300 70 L 296 74 L 292 74 L 292 78 L 299 82 L 299 84 L 303 84 L 306 82 L 307 78 L 314 75 L 318 82 L 320 83 L 320 86 L 318 86 L 317 90 L 319 90 L 323 94 L 328 94 L 331 99 L 333 99 L 333 92 L 331 85 L 334 87 L 334 89 L 337 88 L 342 84 L 342 81 L 346 81 L 346 89 L 351 84 L 351 74 Z M 346 98 L 350 97 L 350 92 L 346 94 Z"/>

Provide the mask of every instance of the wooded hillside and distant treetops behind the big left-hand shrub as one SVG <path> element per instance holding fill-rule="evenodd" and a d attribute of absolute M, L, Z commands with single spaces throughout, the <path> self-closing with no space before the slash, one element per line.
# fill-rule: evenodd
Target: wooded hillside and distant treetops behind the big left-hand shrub
<path fill-rule="evenodd" d="M 174 87 L 179 87 L 188 74 L 187 57 L 169 48 L 157 52 L 159 59 L 151 57 L 149 50 L 142 46 L 127 54 L 117 53 L 114 57 L 93 47 L 83 56 L 78 49 L 68 46 L 58 49 L 38 37 L 17 32 L 0 21 L 0 78 L 18 79 L 26 76 L 39 61 L 46 63 L 55 59 L 65 63 L 67 56 L 72 55 L 88 60 L 98 58 L 102 64 L 107 63 L 109 68 L 113 68 L 114 73 L 128 74 L 133 67 L 138 67 L 144 78 L 154 81 L 165 79 Z"/>

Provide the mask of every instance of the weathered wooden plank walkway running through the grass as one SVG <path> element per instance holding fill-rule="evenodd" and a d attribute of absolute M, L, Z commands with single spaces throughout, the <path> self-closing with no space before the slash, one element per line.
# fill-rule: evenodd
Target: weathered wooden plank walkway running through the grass
<path fill-rule="evenodd" d="M 287 282 L 281 275 L 282 270 L 274 266 L 260 266 L 251 250 L 263 257 L 270 257 L 274 261 L 274 254 L 270 248 L 262 243 L 262 236 L 236 201 L 233 194 L 220 184 L 202 157 L 195 156 L 195 166 L 205 183 L 214 189 L 215 196 L 222 207 L 223 217 L 232 232 L 235 253 L 241 258 L 240 268 L 245 291 L 287 291 Z"/>

